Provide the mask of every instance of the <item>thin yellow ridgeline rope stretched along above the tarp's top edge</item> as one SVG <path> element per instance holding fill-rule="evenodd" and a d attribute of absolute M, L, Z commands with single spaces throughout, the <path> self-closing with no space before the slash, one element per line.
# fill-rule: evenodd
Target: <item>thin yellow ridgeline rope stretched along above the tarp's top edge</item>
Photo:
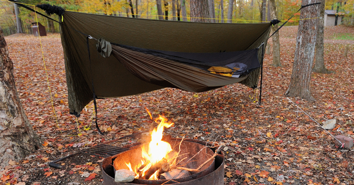
<path fill-rule="evenodd" d="M 7 0 L 0 0 L 0 1 L 6 1 L 6 2 L 11 2 L 11 1 L 7 1 Z M 19 4 L 23 4 L 23 5 L 29 5 L 29 4 L 24 4 L 21 2 L 18 2 Z M 35 5 L 29 5 L 29 6 L 35 6 Z M 87 12 L 87 13 L 115 13 L 115 12 L 93 12 L 93 11 L 75 11 L 75 10 L 65 10 L 68 12 Z M 116 14 L 123 14 L 123 15 L 137 15 L 137 16 L 159 16 L 159 15 L 147 15 L 147 14 L 132 14 L 132 13 L 116 13 Z M 161 17 L 165 17 L 165 16 L 161 16 Z M 168 16 L 168 17 L 178 17 L 178 16 Z M 184 18 L 184 17 L 180 17 L 180 18 Z M 196 18 L 196 19 L 215 19 L 215 20 L 222 20 L 221 18 L 201 18 L 201 17 L 186 17 L 186 18 Z M 306 20 L 306 19 L 317 19 L 318 17 L 315 18 L 305 18 L 305 19 L 290 19 L 289 21 L 299 21 L 299 20 Z M 223 19 L 223 20 L 231 20 L 231 21 L 250 21 L 250 22 L 267 22 L 269 23 L 270 21 L 253 21 L 253 20 L 242 20 L 242 19 Z M 281 22 L 284 22 L 287 20 L 283 20 Z M 63 16 L 62 16 L 62 22 L 63 22 Z"/>

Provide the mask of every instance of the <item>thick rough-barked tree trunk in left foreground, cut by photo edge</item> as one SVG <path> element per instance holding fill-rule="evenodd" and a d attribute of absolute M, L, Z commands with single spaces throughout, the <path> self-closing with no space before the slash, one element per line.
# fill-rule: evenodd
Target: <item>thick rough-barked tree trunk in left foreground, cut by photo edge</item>
<path fill-rule="evenodd" d="M 13 64 L 0 27 L 0 166 L 21 161 L 43 143 L 34 132 L 22 108 L 15 87 Z"/>

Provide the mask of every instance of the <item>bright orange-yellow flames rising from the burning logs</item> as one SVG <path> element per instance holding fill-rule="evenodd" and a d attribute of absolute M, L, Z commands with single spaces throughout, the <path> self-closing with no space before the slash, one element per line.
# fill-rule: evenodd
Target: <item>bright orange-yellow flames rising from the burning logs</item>
<path fill-rule="evenodd" d="M 152 115 L 150 114 L 149 110 L 145 108 L 150 115 L 150 118 L 153 119 Z M 129 169 L 135 172 L 135 178 L 144 177 L 145 172 L 154 164 L 158 163 L 162 158 L 168 158 L 169 153 L 172 151 L 171 145 L 165 141 L 162 141 L 162 132 L 164 131 L 164 127 L 169 128 L 174 123 L 168 122 L 167 118 L 159 115 L 158 118 L 154 120 L 159 125 L 151 132 L 151 141 L 148 146 L 148 151 L 145 150 L 145 147 L 142 147 L 142 158 L 143 160 L 141 163 L 137 164 L 134 169 L 132 169 L 130 163 L 126 163 Z M 139 169 L 143 164 L 145 167 Z M 149 180 L 158 180 L 156 175 L 157 171 L 149 177 Z"/>

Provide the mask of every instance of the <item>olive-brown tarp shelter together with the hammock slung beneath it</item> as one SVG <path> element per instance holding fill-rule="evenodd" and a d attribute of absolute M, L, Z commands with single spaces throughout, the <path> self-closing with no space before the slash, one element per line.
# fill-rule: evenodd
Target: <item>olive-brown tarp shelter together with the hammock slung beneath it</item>
<path fill-rule="evenodd" d="M 190 92 L 233 83 L 256 87 L 262 63 L 259 46 L 266 43 L 272 27 L 272 23 L 159 21 L 69 11 L 62 24 L 69 108 L 78 116 L 94 99 L 92 87 L 97 98 L 165 87 Z M 87 35 L 101 42 L 86 39 Z M 105 41 L 112 48 L 109 57 L 96 50 Z"/>

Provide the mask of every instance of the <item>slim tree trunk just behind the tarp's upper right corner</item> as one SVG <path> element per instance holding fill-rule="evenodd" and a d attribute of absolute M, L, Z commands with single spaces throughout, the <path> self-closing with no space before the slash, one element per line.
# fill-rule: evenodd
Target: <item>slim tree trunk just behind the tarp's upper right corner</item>
<path fill-rule="evenodd" d="M 270 2 L 270 19 L 277 19 L 276 15 L 276 7 L 275 7 L 275 0 L 269 0 Z M 275 30 L 278 29 L 278 24 L 274 25 L 272 27 L 272 33 L 274 33 Z M 279 46 L 279 32 L 276 32 L 272 36 L 272 41 L 273 41 L 273 63 L 272 66 L 274 67 L 280 67 L 280 46 Z"/>

